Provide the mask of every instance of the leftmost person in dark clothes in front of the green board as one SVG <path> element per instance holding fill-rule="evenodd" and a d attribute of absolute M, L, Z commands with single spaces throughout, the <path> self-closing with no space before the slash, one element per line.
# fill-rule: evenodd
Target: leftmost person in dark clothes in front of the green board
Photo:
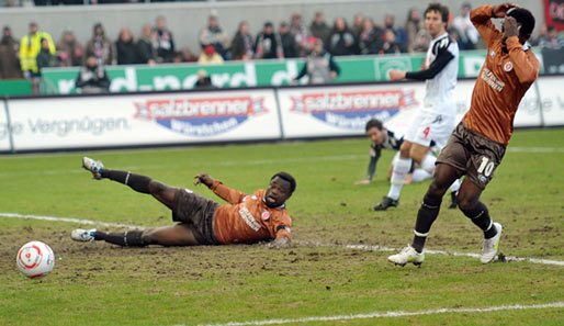
<path fill-rule="evenodd" d="M 102 66 L 98 65 L 98 58 L 90 54 L 84 66 L 80 68 L 75 82 L 77 91 L 84 94 L 105 93 L 110 88 L 110 79 Z"/>

